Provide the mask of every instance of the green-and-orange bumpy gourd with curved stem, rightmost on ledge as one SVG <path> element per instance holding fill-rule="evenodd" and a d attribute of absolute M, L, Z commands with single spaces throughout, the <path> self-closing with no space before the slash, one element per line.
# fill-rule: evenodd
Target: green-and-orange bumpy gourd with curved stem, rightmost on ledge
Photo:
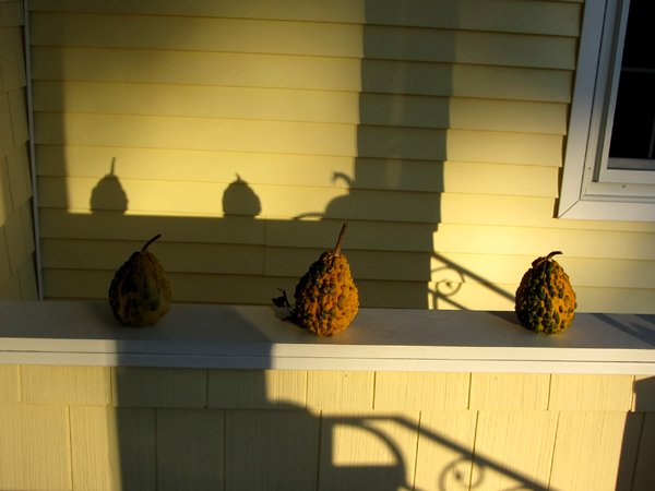
<path fill-rule="evenodd" d="M 516 290 L 515 310 L 521 324 L 545 334 L 569 328 L 577 307 L 575 291 L 564 270 L 551 258 L 536 259 Z"/>

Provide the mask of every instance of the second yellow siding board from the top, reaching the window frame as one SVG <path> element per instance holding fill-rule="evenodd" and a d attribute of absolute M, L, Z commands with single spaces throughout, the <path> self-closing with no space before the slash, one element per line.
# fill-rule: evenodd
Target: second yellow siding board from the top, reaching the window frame
<path fill-rule="evenodd" d="M 336 23 L 36 13 L 39 46 L 453 61 L 573 69 L 574 37 Z M 172 34 L 172 35 L 171 35 Z"/>

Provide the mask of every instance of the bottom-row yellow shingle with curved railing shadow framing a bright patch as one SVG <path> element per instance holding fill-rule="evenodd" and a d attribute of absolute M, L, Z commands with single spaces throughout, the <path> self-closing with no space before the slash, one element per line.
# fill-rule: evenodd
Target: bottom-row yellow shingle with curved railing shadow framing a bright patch
<path fill-rule="evenodd" d="M 412 489 L 418 415 L 324 411 L 319 490 Z"/>

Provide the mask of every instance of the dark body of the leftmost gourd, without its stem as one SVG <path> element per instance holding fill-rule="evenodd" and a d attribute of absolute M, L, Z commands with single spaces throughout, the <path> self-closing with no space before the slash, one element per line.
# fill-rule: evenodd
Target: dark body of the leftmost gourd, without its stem
<path fill-rule="evenodd" d="M 122 324 L 135 327 L 153 325 L 166 315 L 171 297 L 162 264 L 152 252 L 144 250 L 130 256 L 109 286 L 114 316 Z"/>

